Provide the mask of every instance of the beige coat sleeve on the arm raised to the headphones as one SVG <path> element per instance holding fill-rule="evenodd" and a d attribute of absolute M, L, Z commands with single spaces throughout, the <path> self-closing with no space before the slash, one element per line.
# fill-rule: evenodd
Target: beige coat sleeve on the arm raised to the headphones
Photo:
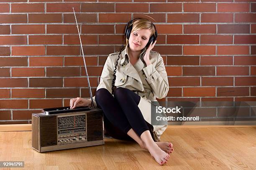
<path fill-rule="evenodd" d="M 158 54 L 156 66 L 150 64 L 143 68 L 146 75 L 146 81 L 151 86 L 154 95 L 161 99 L 166 97 L 169 91 L 169 82 L 167 73 L 164 67 L 164 60 Z"/>

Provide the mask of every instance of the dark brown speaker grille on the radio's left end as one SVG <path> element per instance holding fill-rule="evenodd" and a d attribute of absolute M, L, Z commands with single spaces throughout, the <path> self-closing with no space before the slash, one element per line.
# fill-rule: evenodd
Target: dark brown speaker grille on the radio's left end
<path fill-rule="evenodd" d="M 41 147 L 57 145 L 57 117 L 40 117 L 40 126 Z"/>

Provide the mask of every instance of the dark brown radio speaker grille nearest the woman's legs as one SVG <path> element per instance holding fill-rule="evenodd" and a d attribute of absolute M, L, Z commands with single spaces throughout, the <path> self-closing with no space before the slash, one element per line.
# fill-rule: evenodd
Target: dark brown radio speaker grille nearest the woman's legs
<path fill-rule="evenodd" d="M 103 140 L 102 112 L 87 113 L 87 141 Z"/>

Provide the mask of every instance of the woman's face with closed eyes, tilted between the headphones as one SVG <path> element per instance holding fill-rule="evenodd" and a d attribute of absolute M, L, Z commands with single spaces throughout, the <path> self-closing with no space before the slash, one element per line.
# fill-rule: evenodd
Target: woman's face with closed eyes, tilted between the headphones
<path fill-rule="evenodd" d="M 141 29 L 131 32 L 129 37 L 129 47 L 133 52 L 141 51 L 146 47 L 150 38 L 151 31 L 149 29 Z"/>

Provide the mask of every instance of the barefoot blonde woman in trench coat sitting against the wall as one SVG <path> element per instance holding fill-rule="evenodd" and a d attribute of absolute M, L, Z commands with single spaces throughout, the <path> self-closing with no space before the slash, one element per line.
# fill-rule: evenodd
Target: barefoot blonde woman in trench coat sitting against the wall
<path fill-rule="evenodd" d="M 167 125 L 150 124 L 151 101 L 166 97 L 169 90 L 163 58 L 151 51 L 156 37 L 151 21 L 136 18 L 128 22 L 125 49 L 108 56 L 93 102 L 104 112 L 108 135 L 135 140 L 163 165 L 173 148 L 172 143 L 158 142 Z M 91 100 L 80 97 L 70 100 L 71 109 L 91 105 Z"/>

